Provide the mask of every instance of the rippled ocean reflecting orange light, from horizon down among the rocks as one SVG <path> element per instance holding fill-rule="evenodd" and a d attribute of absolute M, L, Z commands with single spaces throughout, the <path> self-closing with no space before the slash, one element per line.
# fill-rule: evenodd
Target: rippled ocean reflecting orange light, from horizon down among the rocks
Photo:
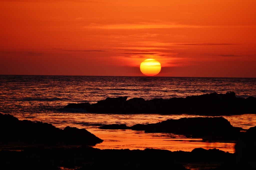
<path fill-rule="evenodd" d="M 256 78 L 0 75 L 0 112 L 20 120 L 52 123 L 58 128 L 86 128 L 104 140 L 94 146 L 99 149 L 191 151 L 202 147 L 233 153 L 234 142 L 202 141 L 182 135 L 144 131 L 103 130 L 91 125 L 119 123 L 132 126 L 197 115 L 95 114 L 85 110 L 63 109 L 69 103 L 96 103 L 107 97 L 168 99 L 213 92 L 235 92 L 237 97 L 256 97 Z M 223 117 L 233 126 L 244 129 L 256 126 L 256 114 Z"/>

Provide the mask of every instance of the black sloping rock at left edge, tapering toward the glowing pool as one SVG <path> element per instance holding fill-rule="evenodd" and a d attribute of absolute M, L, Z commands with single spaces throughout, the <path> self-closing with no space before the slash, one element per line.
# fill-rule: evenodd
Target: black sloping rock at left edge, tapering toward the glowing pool
<path fill-rule="evenodd" d="M 103 140 L 86 129 L 59 129 L 49 123 L 20 121 L 0 113 L 0 143 L 95 145 Z"/>

